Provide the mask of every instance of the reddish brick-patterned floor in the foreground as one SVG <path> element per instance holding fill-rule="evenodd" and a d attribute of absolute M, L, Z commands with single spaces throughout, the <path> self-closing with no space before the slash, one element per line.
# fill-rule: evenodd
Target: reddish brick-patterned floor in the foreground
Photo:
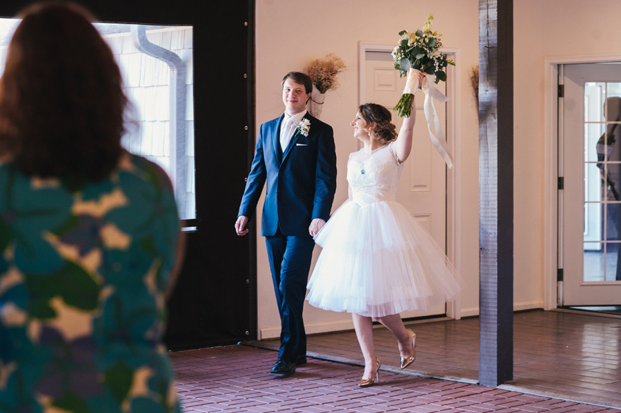
<path fill-rule="evenodd" d="M 360 388 L 362 368 L 308 359 L 292 376 L 270 374 L 276 353 L 230 345 L 170 353 L 184 412 L 621 413 L 621 410 L 380 370 Z"/>

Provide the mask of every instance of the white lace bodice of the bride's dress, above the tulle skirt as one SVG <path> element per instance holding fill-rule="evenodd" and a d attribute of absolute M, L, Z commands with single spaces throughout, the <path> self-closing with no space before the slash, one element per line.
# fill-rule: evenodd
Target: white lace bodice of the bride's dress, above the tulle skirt
<path fill-rule="evenodd" d="M 402 169 L 392 143 L 370 153 L 363 149 L 353 152 L 347 161 L 352 201 L 359 205 L 395 201 Z"/>

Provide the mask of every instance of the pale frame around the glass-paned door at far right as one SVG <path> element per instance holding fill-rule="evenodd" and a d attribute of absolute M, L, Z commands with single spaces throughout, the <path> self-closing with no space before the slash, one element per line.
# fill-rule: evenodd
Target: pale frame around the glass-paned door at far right
<path fill-rule="evenodd" d="M 544 59 L 544 310 L 558 307 L 558 65 L 621 61 L 621 54 Z"/>

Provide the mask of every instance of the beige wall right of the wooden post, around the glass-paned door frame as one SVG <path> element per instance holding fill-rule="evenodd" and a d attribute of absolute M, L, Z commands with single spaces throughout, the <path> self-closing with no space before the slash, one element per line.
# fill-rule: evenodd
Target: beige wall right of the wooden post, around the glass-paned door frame
<path fill-rule="evenodd" d="M 555 256 L 552 268 L 544 268 L 546 249 L 555 253 L 555 234 L 544 239 L 546 221 L 554 211 L 546 209 L 544 182 L 551 178 L 546 167 L 546 79 L 544 60 L 552 57 L 621 54 L 621 1 L 618 0 L 514 0 L 514 276 L 515 303 L 520 300 L 543 307 L 543 285 L 550 286 L 548 301 L 555 303 Z M 548 97 L 550 99 L 553 97 Z M 555 117 L 550 113 L 549 117 Z M 551 152 L 549 158 L 556 157 Z M 555 188 L 548 196 L 555 197 Z M 553 205 L 551 205 L 553 206 Z M 551 221 L 551 220 L 550 220 Z M 553 224 L 553 223 L 551 223 Z M 552 245 L 551 245 L 552 244 Z M 552 254 L 550 254 L 552 255 Z"/>

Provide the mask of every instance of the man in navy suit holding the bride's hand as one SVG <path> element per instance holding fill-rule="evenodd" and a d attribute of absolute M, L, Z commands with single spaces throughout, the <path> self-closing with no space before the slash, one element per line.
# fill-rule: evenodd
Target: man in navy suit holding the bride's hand
<path fill-rule="evenodd" d="M 313 236 L 330 216 L 337 170 L 332 127 L 306 112 L 311 78 L 289 72 L 281 85 L 285 112 L 259 129 L 235 230 L 237 235 L 248 233 L 246 223 L 267 185 L 261 235 L 266 237 L 281 320 L 280 350 L 271 372 L 293 374 L 296 365 L 306 363 L 302 309 Z"/>

